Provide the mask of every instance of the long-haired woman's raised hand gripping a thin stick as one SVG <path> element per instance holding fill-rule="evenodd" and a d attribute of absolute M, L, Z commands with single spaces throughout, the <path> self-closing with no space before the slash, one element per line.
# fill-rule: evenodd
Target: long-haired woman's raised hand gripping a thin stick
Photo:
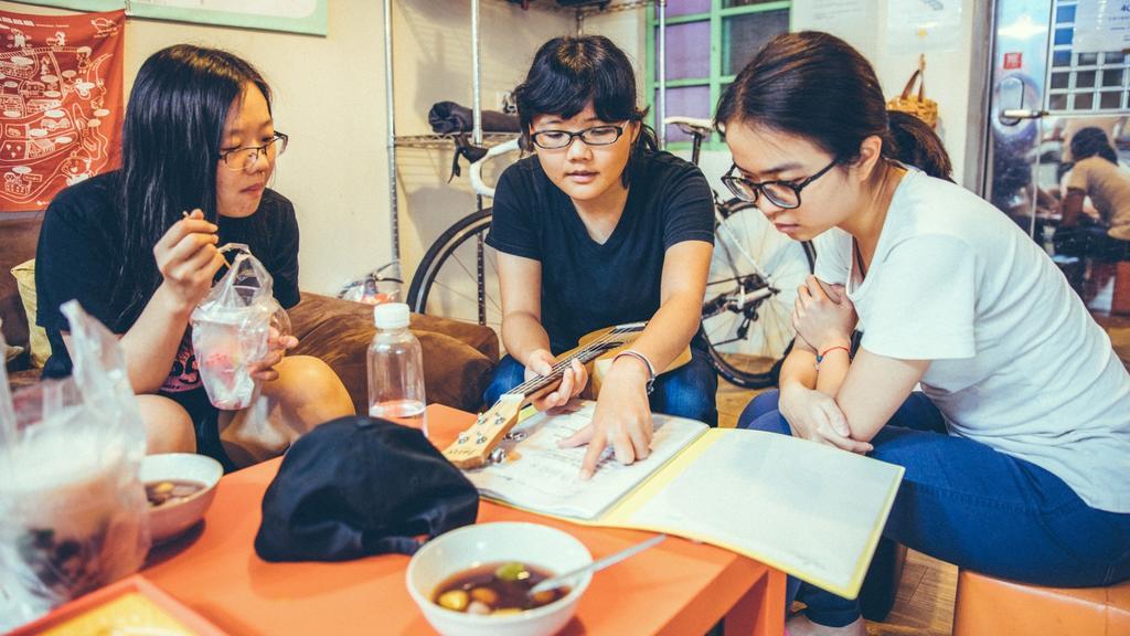
<path fill-rule="evenodd" d="M 164 277 L 164 295 L 177 312 L 189 313 L 208 295 L 224 255 L 216 250 L 218 227 L 199 209 L 173 224 L 153 248 Z"/>

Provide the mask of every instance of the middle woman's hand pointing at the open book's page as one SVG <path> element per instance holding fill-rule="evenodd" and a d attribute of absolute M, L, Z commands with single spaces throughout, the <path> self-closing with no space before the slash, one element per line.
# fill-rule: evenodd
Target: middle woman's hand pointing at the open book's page
<path fill-rule="evenodd" d="M 609 445 L 621 464 L 644 459 L 651 454 L 654 428 L 647 402 L 647 368 L 642 361 L 628 355 L 616 360 L 600 387 L 592 422 L 562 440 L 563 448 L 589 445 L 581 466 L 582 478 L 592 476 Z"/>

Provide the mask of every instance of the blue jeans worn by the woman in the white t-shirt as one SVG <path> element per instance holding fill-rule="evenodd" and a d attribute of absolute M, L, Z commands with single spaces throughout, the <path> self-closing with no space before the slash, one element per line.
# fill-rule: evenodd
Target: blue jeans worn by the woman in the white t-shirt
<path fill-rule="evenodd" d="M 775 390 L 757 396 L 738 427 L 791 435 L 777 398 Z M 941 413 L 921 393 L 911 394 L 871 444 L 871 457 L 906 469 L 885 536 L 1023 583 L 1092 587 L 1130 578 L 1130 514 L 1092 508 L 1044 469 L 947 435 Z M 797 590 L 799 582 L 789 583 Z M 860 616 L 857 601 L 807 583 L 799 583 L 797 598 L 820 625 L 842 627 Z"/>

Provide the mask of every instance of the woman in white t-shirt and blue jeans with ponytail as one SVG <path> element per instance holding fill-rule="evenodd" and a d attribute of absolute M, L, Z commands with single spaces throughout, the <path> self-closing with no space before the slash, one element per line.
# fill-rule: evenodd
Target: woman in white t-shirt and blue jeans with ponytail
<path fill-rule="evenodd" d="M 894 161 L 913 155 L 893 145 L 904 123 L 834 36 L 770 42 L 715 119 L 727 186 L 818 255 L 780 393 L 739 426 L 905 466 L 885 534 L 922 552 L 1035 584 L 1130 577 L 1130 376 L 1051 259 L 990 204 Z M 854 601 L 800 598 L 794 636 L 864 633 Z"/>

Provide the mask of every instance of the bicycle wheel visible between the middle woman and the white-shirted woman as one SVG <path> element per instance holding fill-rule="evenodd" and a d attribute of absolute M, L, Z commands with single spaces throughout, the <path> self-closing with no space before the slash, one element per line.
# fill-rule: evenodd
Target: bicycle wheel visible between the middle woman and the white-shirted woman
<path fill-rule="evenodd" d="M 751 204 L 715 205 L 703 334 L 711 362 L 727 381 L 745 388 L 776 383 L 796 336 L 797 287 L 815 261 L 811 243 L 777 232 Z"/>

